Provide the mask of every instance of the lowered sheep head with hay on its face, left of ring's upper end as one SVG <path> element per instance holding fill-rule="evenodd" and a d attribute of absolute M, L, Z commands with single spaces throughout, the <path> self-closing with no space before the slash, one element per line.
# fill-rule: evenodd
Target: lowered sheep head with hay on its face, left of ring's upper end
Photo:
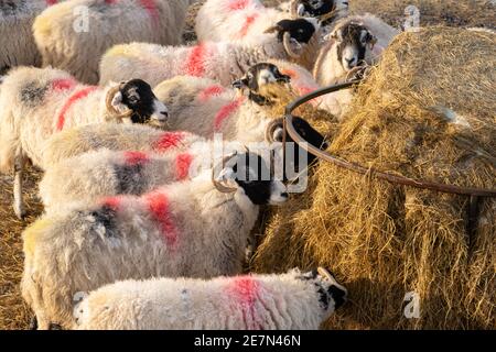
<path fill-rule="evenodd" d="M 281 74 L 273 64 L 259 63 L 251 66 L 242 78 L 235 80 L 233 87 L 258 92 L 261 86 L 273 82 L 289 84 L 291 78 Z"/>

